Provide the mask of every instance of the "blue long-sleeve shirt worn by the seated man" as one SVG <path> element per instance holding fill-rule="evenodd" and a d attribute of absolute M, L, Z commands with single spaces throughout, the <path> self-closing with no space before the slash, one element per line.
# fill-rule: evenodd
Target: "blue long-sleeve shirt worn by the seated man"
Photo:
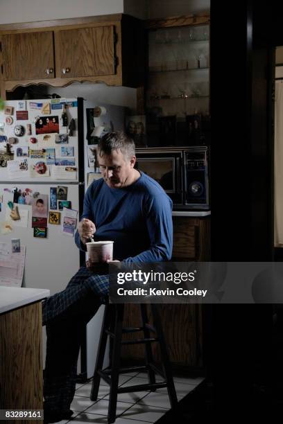
<path fill-rule="evenodd" d="M 113 259 L 159 262 L 172 254 L 172 201 L 148 175 L 130 186 L 110 188 L 103 178 L 85 193 L 83 215 L 96 226 L 94 240 L 113 240 Z M 78 231 L 76 245 L 85 250 Z"/>

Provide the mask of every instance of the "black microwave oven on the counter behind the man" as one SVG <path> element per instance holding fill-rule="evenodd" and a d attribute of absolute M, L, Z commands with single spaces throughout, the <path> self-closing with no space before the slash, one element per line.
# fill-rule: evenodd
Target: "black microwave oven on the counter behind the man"
<path fill-rule="evenodd" d="M 207 146 L 137 148 L 135 168 L 157 181 L 174 210 L 209 209 Z"/>

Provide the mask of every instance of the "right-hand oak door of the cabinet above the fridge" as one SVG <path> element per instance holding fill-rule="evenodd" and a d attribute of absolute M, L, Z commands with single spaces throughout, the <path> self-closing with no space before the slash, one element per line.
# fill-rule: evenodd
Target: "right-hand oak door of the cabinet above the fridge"
<path fill-rule="evenodd" d="M 58 31 L 56 47 L 61 78 L 115 74 L 112 25 Z"/>

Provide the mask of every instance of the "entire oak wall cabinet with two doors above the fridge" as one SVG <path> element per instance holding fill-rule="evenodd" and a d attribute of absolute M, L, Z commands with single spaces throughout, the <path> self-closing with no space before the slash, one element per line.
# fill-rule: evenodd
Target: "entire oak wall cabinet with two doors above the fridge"
<path fill-rule="evenodd" d="M 0 42 L 3 97 L 40 83 L 144 84 L 144 25 L 128 15 L 0 25 Z"/>

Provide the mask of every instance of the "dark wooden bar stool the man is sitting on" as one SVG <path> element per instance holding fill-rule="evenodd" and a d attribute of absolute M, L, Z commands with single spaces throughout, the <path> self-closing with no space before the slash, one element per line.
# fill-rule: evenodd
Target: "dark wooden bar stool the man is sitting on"
<path fill-rule="evenodd" d="M 171 366 L 169 363 L 169 356 L 167 353 L 166 343 L 164 340 L 164 334 L 157 308 L 158 305 L 154 303 L 151 304 L 153 326 L 148 323 L 146 304 L 141 303 L 141 327 L 123 328 L 124 304 L 110 304 L 105 306 L 103 325 L 101 328 L 101 337 L 98 346 L 98 355 L 96 357 L 94 378 L 92 381 L 92 393 L 90 395 L 90 398 L 91 400 L 97 399 L 100 380 L 101 378 L 103 378 L 103 380 L 110 385 L 108 423 L 114 423 L 116 419 L 117 395 L 119 393 L 128 393 L 132 391 L 143 390 L 155 391 L 156 389 L 160 389 L 160 387 L 166 387 L 169 394 L 171 407 L 174 408 L 178 403 L 173 382 L 173 376 L 171 372 Z M 143 331 L 144 338 L 135 340 L 122 340 L 123 333 L 133 333 L 136 331 Z M 151 337 L 151 333 L 155 333 L 155 337 Z M 105 355 L 105 347 L 108 335 L 112 339 L 110 340 L 112 341 L 110 349 L 111 368 L 103 369 L 103 359 Z M 158 369 L 157 366 L 153 364 L 153 353 L 151 350 L 151 344 L 153 342 L 157 342 L 160 344 L 163 370 Z M 120 368 L 121 346 L 123 344 L 141 343 L 145 344 L 145 364 L 141 366 L 128 366 Z M 119 374 L 129 373 L 132 371 L 147 371 L 148 383 L 144 385 L 118 387 Z M 164 381 L 156 382 L 155 374 L 162 376 L 162 378 L 164 378 Z"/>

